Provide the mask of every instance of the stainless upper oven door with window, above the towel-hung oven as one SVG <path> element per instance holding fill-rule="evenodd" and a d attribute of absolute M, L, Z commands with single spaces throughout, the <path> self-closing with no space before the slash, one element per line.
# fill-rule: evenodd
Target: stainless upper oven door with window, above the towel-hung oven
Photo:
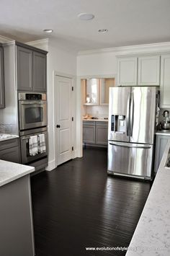
<path fill-rule="evenodd" d="M 47 125 L 46 101 L 19 100 L 20 130 Z"/>

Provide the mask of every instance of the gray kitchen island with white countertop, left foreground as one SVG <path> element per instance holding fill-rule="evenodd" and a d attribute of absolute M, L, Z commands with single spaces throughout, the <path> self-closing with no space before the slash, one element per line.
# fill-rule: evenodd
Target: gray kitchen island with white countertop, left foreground
<path fill-rule="evenodd" d="M 35 255 L 30 173 L 35 168 L 0 160 L 0 254 Z"/>

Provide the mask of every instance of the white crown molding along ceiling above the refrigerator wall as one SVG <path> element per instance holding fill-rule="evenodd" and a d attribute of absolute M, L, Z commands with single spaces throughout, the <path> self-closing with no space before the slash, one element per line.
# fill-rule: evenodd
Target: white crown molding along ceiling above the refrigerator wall
<path fill-rule="evenodd" d="M 170 42 L 149 43 L 145 45 L 128 45 L 115 48 L 101 48 L 96 50 L 81 50 L 78 56 L 99 54 L 99 53 L 116 53 L 117 55 L 135 54 L 135 53 L 164 53 L 170 51 Z"/>

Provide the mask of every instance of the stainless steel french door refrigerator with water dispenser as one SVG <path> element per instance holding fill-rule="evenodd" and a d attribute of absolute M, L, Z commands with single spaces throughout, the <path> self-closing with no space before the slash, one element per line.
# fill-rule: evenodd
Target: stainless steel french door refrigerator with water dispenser
<path fill-rule="evenodd" d="M 109 174 L 151 179 L 157 102 L 156 87 L 109 89 Z"/>

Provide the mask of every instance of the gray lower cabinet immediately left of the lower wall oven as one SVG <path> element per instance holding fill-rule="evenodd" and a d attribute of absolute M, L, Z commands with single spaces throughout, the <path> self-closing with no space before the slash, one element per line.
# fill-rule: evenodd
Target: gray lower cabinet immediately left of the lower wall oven
<path fill-rule="evenodd" d="M 20 163 L 18 138 L 0 142 L 0 159 L 9 162 Z"/>

